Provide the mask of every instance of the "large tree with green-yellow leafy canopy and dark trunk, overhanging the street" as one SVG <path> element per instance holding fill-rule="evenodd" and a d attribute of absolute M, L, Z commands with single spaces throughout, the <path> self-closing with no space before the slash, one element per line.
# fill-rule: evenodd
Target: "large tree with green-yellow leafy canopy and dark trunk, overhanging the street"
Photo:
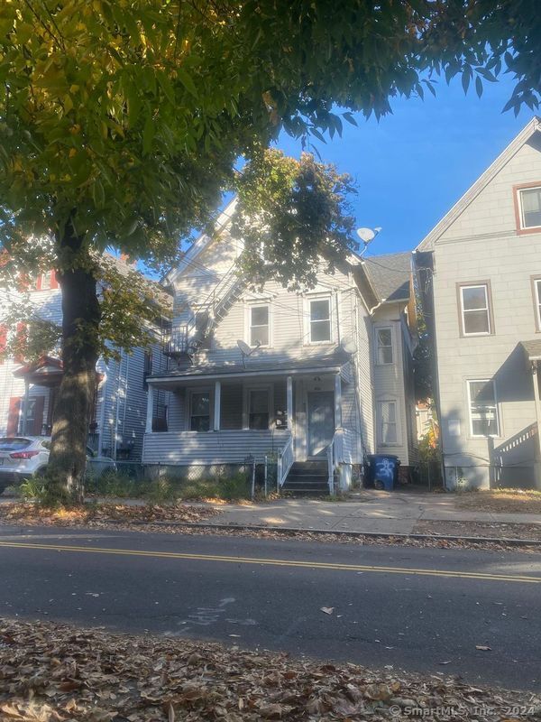
<path fill-rule="evenodd" d="M 344 121 L 355 123 L 353 111 L 380 117 L 390 112 L 393 97 L 435 92 L 438 76 L 447 81 L 461 76 L 464 89 L 473 81 L 481 94 L 483 82 L 493 82 L 507 65 L 517 80 L 509 107 L 535 107 L 541 78 L 536 5 L 536 0 L 5 0 L 0 5 L 0 239 L 10 257 L 23 260 L 41 248 L 32 243 L 28 249 L 25 240 L 46 239 L 51 247 L 62 290 L 64 376 L 50 462 L 63 464 L 67 477 L 78 480 L 79 496 L 101 329 L 107 334 L 116 329 L 97 297 L 97 259 L 105 248 L 149 263 L 171 262 L 179 237 L 205 226 L 221 192 L 234 186 L 240 156 L 256 168 L 261 157 L 264 161 L 261 147 L 282 128 L 305 141 L 309 135 L 332 137 Z M 286 164 L 279 162 L 282 169 Z M 308 165 L 302 161 L 301 170 Z M 290 214 L 278 218 L 280 208 L 291 207 L 283 202 L 291 194 L 291 172 L 280 171 L 285 190 L 270 218 L 282 231 L 273 245 L 277 253 L 296 253 Z M 313 167 L 312 179 L 316 176 Z M 298 211 L 307 211 L 299 190 L 305 181 L 299 176 L 296 182 Z M 329 236 L 340 238 L 349 221 L 336 222 L 327 204 L 320 209 L 322 218 L 311 213 L 309 221 L 320 231 L 330 222 Z M 309 264 L 313 254 L 304 257 Z M 266 260 L 288 282 L 283 258 Z M 302 256 L 294 260 L 293 284 L 303 275 Z M 40 263 L 35 257 L 34 267 Z M 247 268 L 257 271 L 253 254 Z M 74 417 L 77 424 L 70 423 Z"/>

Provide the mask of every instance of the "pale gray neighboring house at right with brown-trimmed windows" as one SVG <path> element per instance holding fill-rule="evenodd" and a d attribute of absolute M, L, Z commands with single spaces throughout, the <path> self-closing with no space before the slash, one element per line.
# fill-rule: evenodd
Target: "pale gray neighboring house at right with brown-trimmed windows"
<path fill-rule="evenodd" d="M 541 488 L 541 122 L 415 252 L 436 347 L 445 484 Z"/>

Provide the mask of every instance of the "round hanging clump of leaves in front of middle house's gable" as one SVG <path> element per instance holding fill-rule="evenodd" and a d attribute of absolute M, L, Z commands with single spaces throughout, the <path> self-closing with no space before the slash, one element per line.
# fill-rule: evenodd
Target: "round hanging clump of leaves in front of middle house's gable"
<path fill-rule="evenodd" d="M 240 269 L 252 285 L 273 278 L 297 290 L 316 284 L 343 261 L 355 219 L 348 195 L 353 180 L 303 153 L 300 160 L 267 150 L 252 159 L 236 182 L 231 236 L 243 242 Z"/>

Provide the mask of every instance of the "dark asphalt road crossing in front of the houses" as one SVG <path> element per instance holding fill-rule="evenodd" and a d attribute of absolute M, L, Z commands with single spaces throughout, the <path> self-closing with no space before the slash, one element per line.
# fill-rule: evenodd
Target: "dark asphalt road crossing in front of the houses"
<path fill-rule="evenodd" d="M 460 674 L 516 689 L 541 689 L 540 602 L 541 554 L 0 531 L 2 616 Z"/>

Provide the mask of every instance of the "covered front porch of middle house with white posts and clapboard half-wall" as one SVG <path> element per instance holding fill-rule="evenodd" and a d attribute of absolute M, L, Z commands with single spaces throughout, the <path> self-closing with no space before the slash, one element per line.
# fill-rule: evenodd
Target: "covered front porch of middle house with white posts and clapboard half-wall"
<path fill-rule="evenodd" d="M 348 371 L 316 366 L 286 374 L 251 368 L 216 373 L 215 367 L 190 367 L 150 378 L 143 463 L 218 467 L 277 459 L 282 486 L 294 462 L 312 460 L 326 465 L 332 485 L 337 468 L 351 470 L 356 460 L 356 435 L 343 426 L 344 396 L 348 413 L 352 407 Z M 169 392 L 166 431 L 152 430 L 158 389 Z"/>

